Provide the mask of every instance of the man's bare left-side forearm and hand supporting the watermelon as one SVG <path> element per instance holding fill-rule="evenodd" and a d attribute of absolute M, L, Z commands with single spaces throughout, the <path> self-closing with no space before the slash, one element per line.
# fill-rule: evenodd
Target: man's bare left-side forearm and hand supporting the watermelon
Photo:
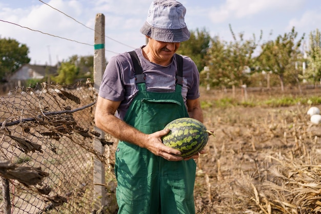
<path fill-rule="evenodd" d="M 180 151 L 165 146 L 162 142 L 162 137 L 169 132 L 169 129 L 152 134 L 145 134 L 137 130 L 114 115 L 120 104 L 120 101 L 111 101 L 98 96 L 95 109 L 95 125 L 121 141 L 146 148 L 166 160 L 181 161 L 183 159 L 177 156 Z"/>

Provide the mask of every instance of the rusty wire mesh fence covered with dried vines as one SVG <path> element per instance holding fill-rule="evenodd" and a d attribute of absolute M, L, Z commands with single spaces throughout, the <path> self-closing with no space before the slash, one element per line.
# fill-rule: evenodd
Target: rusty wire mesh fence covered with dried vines
<path fill-rule="evenodd" d="M 0 100 L 0 213 L 90 213 L 96 94 L 73 87 L 16 87 Z M 10 210 L 8 210 L 10 209 Z"/>

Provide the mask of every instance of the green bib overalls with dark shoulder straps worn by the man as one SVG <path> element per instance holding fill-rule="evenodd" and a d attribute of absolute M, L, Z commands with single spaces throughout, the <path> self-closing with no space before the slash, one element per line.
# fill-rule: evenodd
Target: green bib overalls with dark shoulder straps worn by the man
<path fill-rule="evenodd" d="M 145 77 L 135 52 L 134 63 L 138 93 L 125 121 L 144 133 L 162 130 L 177 118 L 188 117 L 182 97 L 183 59 L 176 54 L 175 92 L 147 92 Z M 179 64 L 179 65 L 178 65 Z M 116 198 L 121 214 L 195 213 L 194 182 L 196 163 L 167 161 L 145 148 L 119 141 L 116 149 Z"/>

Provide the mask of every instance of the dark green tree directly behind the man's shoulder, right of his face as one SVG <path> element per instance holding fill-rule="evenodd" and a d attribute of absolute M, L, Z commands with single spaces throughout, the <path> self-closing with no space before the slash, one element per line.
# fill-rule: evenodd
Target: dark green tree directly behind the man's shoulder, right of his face
<path fill-rule="evenodd" d="M 210 46 L 210 41 L 211 36 L 205 29 L 191 30 L 190 39 L 180 44 L 177 53 L 191 57 L 198 71 L 201 71 L 207 64 L 206 53 Z"/>

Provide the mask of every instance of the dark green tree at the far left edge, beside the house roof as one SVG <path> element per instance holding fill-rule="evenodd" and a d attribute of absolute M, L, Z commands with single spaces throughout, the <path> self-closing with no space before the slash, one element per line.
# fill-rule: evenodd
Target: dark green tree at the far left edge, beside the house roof
<path fill-rule="evenodd" d="M 23 64 L 29 63 L 29 48 L 11 38 L 0 38 L 0 81 Z"/>

